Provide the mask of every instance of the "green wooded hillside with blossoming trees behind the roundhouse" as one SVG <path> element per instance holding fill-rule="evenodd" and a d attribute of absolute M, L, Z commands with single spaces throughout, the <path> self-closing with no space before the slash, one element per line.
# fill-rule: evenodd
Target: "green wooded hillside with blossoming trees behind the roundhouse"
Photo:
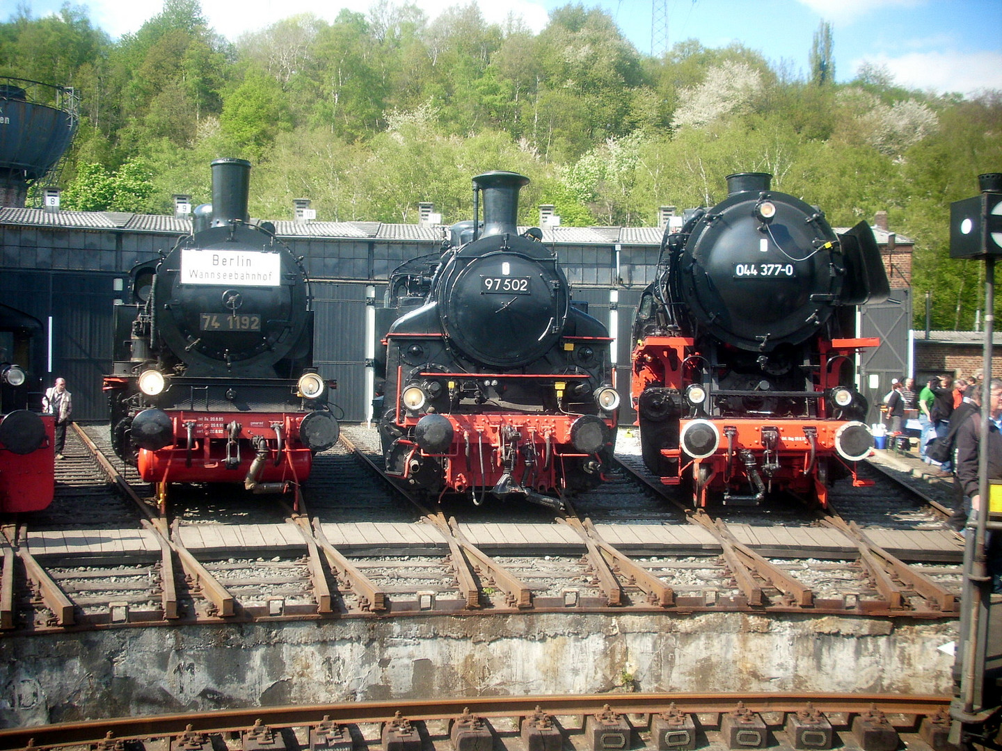
<path fill-rule="evenodd" d="M 168 212 L 172 193 L 209 199 L 210 159 L 242 156 L 256 216 L 309 197 L 323 219 L 415 221 L 430 200 L 451 222 L 469 214 L 472 175 L 511 169 L 532 178 L 526 223 L 553 203 L 564 225 L 649 225 L 658 205 L 720 199 L 725 174 L 768 171 L 836 225 L 886 209 L 916 239 L 934 327 L 969 328 L 982 266 L 948 258 L 949 203 L 1002 171 L 1002 93 L 909 91 L 879 68 L 839 84 L 833 44 L 826 24 L 805 39 L 801 75 L 736 45 L 651 58 L 581 5 L 533 34 L 473 4 L 429 21 L 385 0 L 229 42 L 197 0 L 166 0 L 117 41 L 79 6 L 22 9 L 0 24 L 0 75 L 82 98 L 65 208 Z"/>

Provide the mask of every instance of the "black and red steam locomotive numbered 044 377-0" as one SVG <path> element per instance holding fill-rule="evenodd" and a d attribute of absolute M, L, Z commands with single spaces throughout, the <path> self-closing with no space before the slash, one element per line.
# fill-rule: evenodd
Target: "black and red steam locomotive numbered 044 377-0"
<path fill-rule="evenodd" d="M 873 232 L 836 235 L 816 207 L 727 177 L 661 244 L 633 324 L 631 399 L 644 463 L 692 501 L 758 505 L 784 490 L 821 506 L 873 448 L 854 355 L 857 306 L 887 299 Z"/>

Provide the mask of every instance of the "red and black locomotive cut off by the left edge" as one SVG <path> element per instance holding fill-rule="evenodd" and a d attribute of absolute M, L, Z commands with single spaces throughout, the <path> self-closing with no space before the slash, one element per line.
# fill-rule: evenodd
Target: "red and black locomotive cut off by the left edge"
<path fill-rule="evenodd" d="M 0 304 L 0 513 L 41 511 L 55 490 L 55 420 L 40 415 L 32 343 L 42 323 Z"/>

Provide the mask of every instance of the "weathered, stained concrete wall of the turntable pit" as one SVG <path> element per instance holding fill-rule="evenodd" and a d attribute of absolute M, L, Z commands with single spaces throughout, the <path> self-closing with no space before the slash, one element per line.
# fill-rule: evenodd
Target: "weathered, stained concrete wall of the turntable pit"
<path fill-rule="evenodd" d="M 436 696 L 949 694 L 954 621 L 702 614 L 346 619 L 0 640 L 0 725 Z"/>

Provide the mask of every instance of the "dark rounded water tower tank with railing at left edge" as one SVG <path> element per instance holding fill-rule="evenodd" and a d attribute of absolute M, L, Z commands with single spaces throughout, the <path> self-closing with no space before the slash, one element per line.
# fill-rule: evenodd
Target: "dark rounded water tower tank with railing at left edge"
<path fill-rule="evenodd" d="M 59 163 L 78 101 L 63 86 L 0 77 L 0 206 L 24 206 L 28 187 Z"/>

